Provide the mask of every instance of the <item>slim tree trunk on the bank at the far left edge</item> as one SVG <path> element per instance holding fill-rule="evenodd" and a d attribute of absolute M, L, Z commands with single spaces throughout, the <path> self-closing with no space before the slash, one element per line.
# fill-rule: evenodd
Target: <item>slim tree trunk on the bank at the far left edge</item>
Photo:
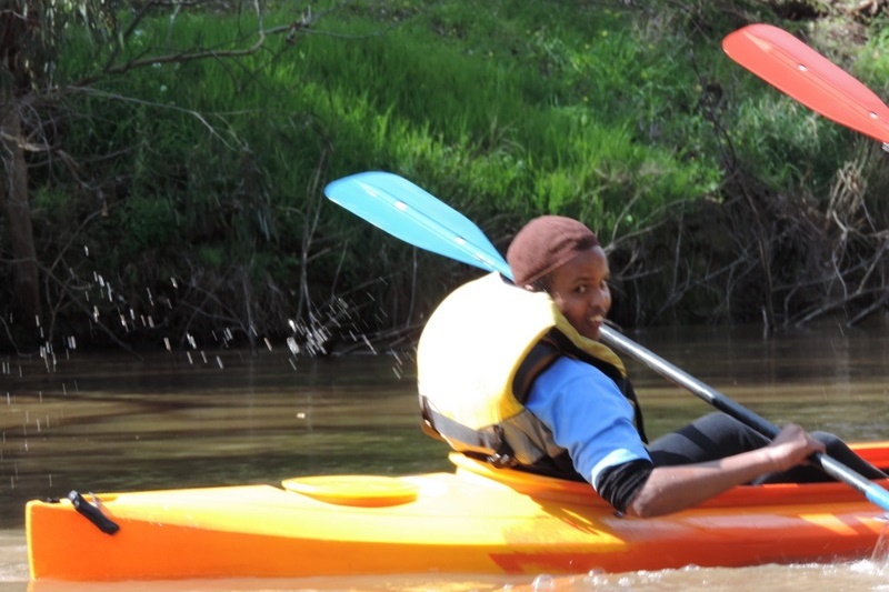
<path fill-rule="evenodd" d="M 7 219 L 8 245 L 12 253 L 12 320 L 36 327 L 40 317 L 40 272 L 28 200 L 28 165 L 21 138 L 18 103 L 9 96 L 0 103 L 0 158 L 3 182 L 0 208 Z"/>

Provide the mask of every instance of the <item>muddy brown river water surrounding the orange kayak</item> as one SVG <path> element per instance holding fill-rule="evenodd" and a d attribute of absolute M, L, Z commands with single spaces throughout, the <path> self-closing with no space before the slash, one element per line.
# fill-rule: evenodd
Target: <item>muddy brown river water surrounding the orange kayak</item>
<path fill-rule="evenodd" d="M 889 439 L 889 323 L 763 338 L 758 328 L 631 339 L 775 423 Z M 571 578 L 391 575 L 83 584 L 29 582 L 23 506 L 81 492 L 277 483 L 322 473 L 449 470 L 418 428 L 410 352 L 294 358 L 182 349 L 137 360 L 77 350 L 0 359 L 0 592 L 889 590 L 889 563 L 765 565 Z M 710 408 L 629 362 L 649 435 Z M 72 542 L 72 545 L 76 543 Z M 89 549 L 79 550 L 89 553 Z M 344 558 L 348 561 L 348 558 Z"/>

